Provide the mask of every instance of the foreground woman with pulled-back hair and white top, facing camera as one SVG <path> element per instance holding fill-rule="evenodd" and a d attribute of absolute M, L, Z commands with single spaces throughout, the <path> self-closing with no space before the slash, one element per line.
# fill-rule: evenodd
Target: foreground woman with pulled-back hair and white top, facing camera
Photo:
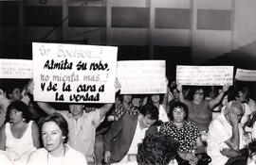
<path fill-rule="evenodd" d="M 53 113 L 40 122 L 44 148 L 34 151 L 27 165 L 86 165 L 82 153 L 66 145 L 68 125 L 60 113 Z"/>

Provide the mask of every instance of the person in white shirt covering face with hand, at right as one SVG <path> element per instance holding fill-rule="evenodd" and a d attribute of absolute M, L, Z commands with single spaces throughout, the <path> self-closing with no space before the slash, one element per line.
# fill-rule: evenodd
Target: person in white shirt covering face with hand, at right
<path fill-rule="evenodd" d="M 243 106 L 231 101 L 224 113 L 210 123 L 207 152 L 212 160 L 211 165 L 224 165 L 229 157 L 239 156 L 239 150 L 246 147 L 240 124 L 243 114 Z"/>

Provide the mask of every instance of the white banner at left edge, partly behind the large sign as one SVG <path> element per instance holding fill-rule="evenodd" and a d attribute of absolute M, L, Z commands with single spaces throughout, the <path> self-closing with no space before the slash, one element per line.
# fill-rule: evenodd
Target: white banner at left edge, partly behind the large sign
<path fill-rule="evenodd" d="M 32 60 L 0 58 L 0 78 L 32 78 Z"/>

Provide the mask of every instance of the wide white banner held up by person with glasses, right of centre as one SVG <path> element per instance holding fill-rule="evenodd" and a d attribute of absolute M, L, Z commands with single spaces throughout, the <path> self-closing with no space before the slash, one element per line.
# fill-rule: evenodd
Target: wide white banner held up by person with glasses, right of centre
<path fill-rule="evenodd" d="M 191 86 L 233 84 L 233 66 L 176 66 L 176 82 Z"/>

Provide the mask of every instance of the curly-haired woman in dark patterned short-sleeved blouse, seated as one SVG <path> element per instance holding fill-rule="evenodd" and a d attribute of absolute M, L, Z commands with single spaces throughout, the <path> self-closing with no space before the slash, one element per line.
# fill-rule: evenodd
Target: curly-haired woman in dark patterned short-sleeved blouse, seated
<path fill-rule="evenodd" d="M 197 126 L 187 120 L 188 107 L 181 102 L 176 102 L 170 107 L 168 116 L 170 122 L 161 124 L 159 132 L 179 142 L 179 158 L 177 158 L 179 164 L 197 164 L 198 159 L 202 158 L 201 154 L 205 153 L 205 146 Z"/>

